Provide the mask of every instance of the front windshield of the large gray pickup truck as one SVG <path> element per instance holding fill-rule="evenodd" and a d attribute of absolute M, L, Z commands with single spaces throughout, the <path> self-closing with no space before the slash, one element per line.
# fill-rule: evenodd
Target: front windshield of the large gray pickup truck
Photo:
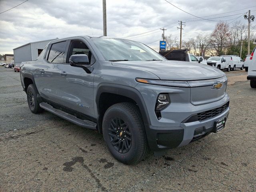
<path fill-rule="evenodd" d="M 166 60 L 148 46 L 131 40 L 91 38 L 106 61 Z"/>

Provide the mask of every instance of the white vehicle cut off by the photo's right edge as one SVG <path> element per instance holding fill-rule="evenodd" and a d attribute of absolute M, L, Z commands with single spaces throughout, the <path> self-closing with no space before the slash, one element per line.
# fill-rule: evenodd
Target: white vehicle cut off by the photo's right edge
<path fill-rule="evenodd" d="M 256 54 L 254 52 L 256 47 L 252 50 L 252 54 L 250 56 L 250 62 L 248 67 L 248 76 L 247 79 L 250 80 L 251 88 L 256 88 Z"/>

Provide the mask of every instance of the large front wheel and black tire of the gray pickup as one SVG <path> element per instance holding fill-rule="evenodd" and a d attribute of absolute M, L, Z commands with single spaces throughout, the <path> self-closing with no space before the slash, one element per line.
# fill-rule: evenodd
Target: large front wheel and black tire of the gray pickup
<path fill-rule="evenodd" d="M 112 156 L 124 164 L 136 164 L 149 153 L 144 123 L 135 104 L 110 106 L 103 117 L 102 132 Z"/>

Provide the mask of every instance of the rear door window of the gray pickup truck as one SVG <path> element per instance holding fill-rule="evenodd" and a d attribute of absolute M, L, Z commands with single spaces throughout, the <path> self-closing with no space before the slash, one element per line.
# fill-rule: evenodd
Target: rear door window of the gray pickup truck
<path fill-rule="evenodd" d="M 52 44 L 47 60 L 50 63 L 63 63 L 66 45 L 66 41 Z"/>

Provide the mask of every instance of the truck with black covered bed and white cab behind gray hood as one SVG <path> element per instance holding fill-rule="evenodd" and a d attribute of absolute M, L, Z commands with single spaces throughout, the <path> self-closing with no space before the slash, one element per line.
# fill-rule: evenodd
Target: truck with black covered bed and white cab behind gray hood
<path fill-rule="evenodd" d="M 193 54 L 188 53 L 187 49 L 160 51 L 159 53 L 168 60 L 188 61 L 194 63 L 200 63 L 204 60 L 203 58 L 198 59 Z"/>

